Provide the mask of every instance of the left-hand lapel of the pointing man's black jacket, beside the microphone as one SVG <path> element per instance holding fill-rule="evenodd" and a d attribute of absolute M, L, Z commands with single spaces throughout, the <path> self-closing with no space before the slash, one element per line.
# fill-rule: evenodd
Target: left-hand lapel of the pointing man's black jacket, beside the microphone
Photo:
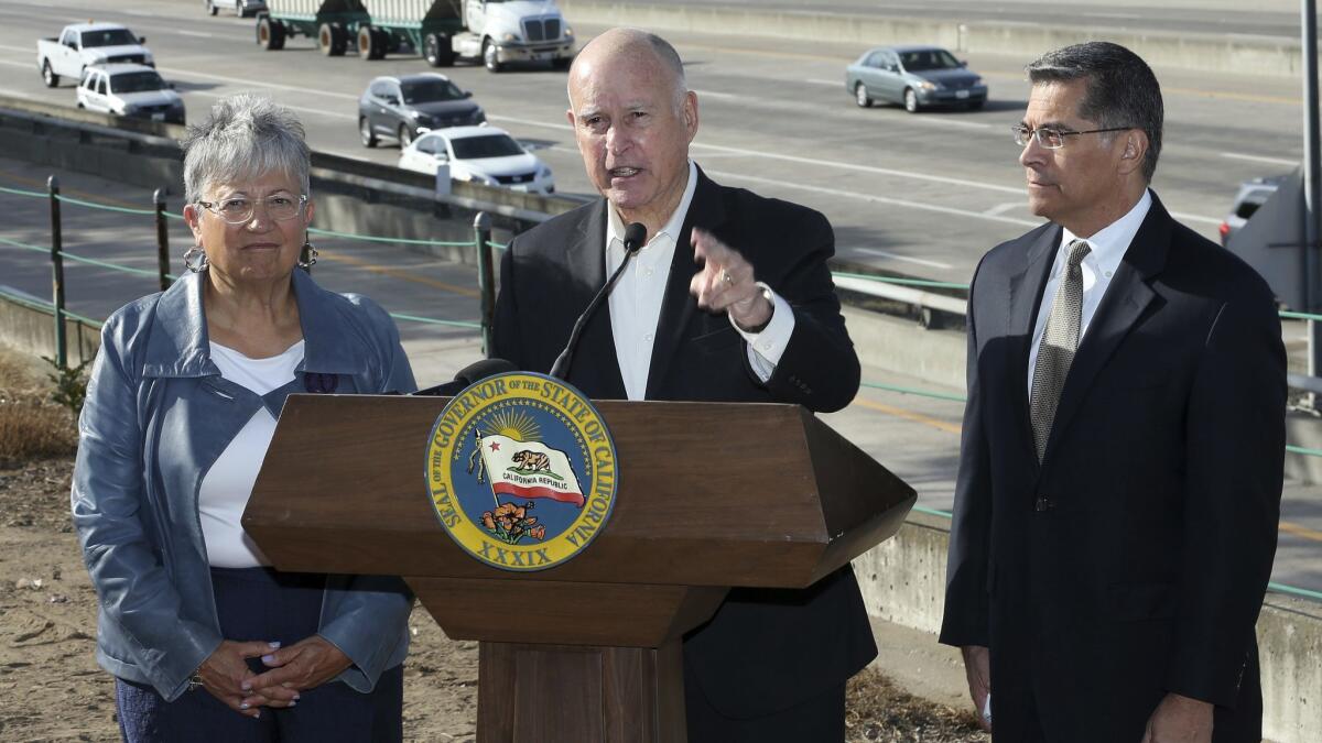
<path fill-rule="evenodd" d="M 586 219 L 579 222 L 578 234 L 566 249 L 566 263 L 570 279 L 566 282 L 566 307 L 574 308 L 574 317 L 566 327 L 572 327 L 578 315 L 587 309 L 592 296 L 605 283 L 605 210 L 608 202 L 596 202 Z M 615 334 L 611 332 L 611 303 L 603 301 L 596 315 L 587 321 L 579 348 L 570 365 L 570 381 L 595 398 L 624 399 L 624 378 L 620 375 L 620 361 L 615 354 Z"/>

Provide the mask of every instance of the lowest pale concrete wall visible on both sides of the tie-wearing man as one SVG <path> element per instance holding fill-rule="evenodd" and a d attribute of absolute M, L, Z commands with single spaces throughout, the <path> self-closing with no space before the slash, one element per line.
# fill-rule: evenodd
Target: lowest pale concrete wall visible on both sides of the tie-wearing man
<path fill-rule="evenodd" d="M 949 520 L 911 514 L 899 534 L 854 561 L 867 612 L 937 632 L 945 596 Z M 1263 735 L 1322 740 L 1322 604 L 1268 594 L 1257 621 Z"/>

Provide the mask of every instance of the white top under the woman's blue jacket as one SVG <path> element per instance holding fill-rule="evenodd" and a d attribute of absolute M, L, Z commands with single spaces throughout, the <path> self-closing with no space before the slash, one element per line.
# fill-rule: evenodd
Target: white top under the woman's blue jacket
<path fill-rule="evenodd" d="M 249 358 L 213 341 L 212 361 L 219 368 L 221 377 L 264 395 L 293 379 L 293 370 L 303 362 L 303 341 L 270 358 Z M 263 407 L 253 414 L 202 477 L 197 510 L 202 521 L 206 559 L 212 567 L 270 565 L 253 538 L 243 531 L 239 518 L 253 496 L 256 472 L 274 435 L 275 416 Z"/>

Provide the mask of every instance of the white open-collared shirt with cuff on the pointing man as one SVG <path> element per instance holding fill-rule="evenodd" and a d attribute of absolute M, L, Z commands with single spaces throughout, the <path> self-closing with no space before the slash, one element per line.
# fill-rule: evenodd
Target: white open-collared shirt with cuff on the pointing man
<path fill-rule="evenodd" d="M 689 161 L 689 185 L 683 189 L 680 206 L 661 227 L 650 235 L 648 243 L 639 249 L 637 255 L 620 275 L 619 283 L 607 299 L 611 307 L 611 332 L 615 336 L 615 356 L 620 362 L 620 377 L 629 399 L 642 399 L 648 390 L 648 372 L 652 366 L 652 349 L 656 341 L 657 325 L 661 321 L 661 303 L 665 299 L 665 286 L 670 278 L 676 242 L 683 230 L 683 219 L 693 204 L 693 193 L 698 188 L 698 167 Z M 607 208 L 605 221 L 605 275 L 609 276 L 624 260 L 624 222 L 613 208 Z M 685 250 L 693 250 L 685 246 Z M 768 292 L 769 287 L 758 283 Z M 730 320 L 735 331 L 748 344 L 748 362 L 758 377 L 765 382 L 776 370 L 785 344 L 795 332 L 795 313 L 789 303 L 771 292 L 775 305 L 771 323 L 760 333 L 747 333 Z"/>

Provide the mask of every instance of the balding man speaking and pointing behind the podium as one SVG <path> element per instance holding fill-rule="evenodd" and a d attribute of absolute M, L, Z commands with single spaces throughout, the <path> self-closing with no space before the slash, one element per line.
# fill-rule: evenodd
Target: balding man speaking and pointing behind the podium
<path fill-rule="evenodd" d="M 576 57 L 568 91 L 604 198 L 512 241 L 493 356 L 550 369 L 639 222 L 646 245 L 584 327 L 570 383 L 607 399 L 849 405 L 859 366 L 825 217 L 717 185 L 689 160 L 697 97 L 660 37 L 603 33 Z M 806 591 L 731 591 L 683 641 L 689 740 L 843 740 L 845 682 L 875 654 L 849 566 Z"/>

